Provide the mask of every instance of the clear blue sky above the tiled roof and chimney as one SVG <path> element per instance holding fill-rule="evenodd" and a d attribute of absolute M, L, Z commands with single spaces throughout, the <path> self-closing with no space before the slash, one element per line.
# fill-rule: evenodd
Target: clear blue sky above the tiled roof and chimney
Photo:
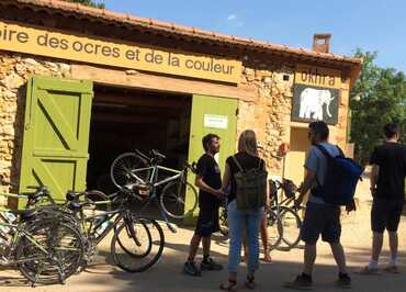
<path fill-rule="evenodd" d="M 294 47 L 332 33 L 332 53 L 377 50 L 376 64 L 406 72 L 404 0 L 104 0 L 108 9 Z"/>

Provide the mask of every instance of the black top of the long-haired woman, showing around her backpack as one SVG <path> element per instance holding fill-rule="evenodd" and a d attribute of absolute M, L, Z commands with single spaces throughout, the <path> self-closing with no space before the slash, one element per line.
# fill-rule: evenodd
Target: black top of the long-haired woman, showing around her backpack
<path fill-rule="evenodd" d="M 257 157 L 249 155 L 247 153 L 237 153 L 236 158 L 238 160 L 238 164 L 241 166 L 244 170 L 252 169 L 252 168 L 261 168 L 266 170 L 266 165 L 264 161 Z M 226 164 L 229 166 L 230 170 L 230 189 L 228 192 L 228 203 L 233 202 L 236 199 L 236 190 L 237 190 L 237 182 L 236 179 L 234 178 L 234 175 L 239 172 L 239 168 L 236 165 L 236 162 L 233 159 L 233 156 L 228 157 L 226 160 Z"/>

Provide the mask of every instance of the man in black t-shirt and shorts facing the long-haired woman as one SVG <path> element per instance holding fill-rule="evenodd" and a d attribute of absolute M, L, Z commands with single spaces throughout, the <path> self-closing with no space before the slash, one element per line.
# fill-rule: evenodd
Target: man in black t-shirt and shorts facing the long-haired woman
<path fill-rule="evenodd" d="M 219 151 L 219 137 L 207 134 L 202 139 L 205 154 L 198 161 L 195 186 L 199 188 L 199 218 L 194 235 L 190 243 L 188 261 L 183 272 L 190 276 L 200 276 L 201 270 L 195 266 L 200 242 L 203 242 L 202 270 L 222 270 L 223 266 L 210 257 L 211 236 L 218 231 L 218 207 L 224 198 L 219 191 L 222 177 L 214 156 Z"/>

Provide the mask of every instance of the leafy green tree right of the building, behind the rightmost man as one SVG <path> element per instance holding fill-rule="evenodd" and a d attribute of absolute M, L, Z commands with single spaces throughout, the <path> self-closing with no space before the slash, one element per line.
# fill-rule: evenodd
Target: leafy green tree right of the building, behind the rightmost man
<path fill-rule="evenodd" d="M 365 165 L 374 147 L 383 141 L 383 125 L 398 122 L 404 126 L 406 79 L 402 71 L 376 66 L 376 52 L 358 49 L 354 56 L 362 57 L 364 63 L 350 92 L 351 141 L 356 144 L 356 159 Z"/>

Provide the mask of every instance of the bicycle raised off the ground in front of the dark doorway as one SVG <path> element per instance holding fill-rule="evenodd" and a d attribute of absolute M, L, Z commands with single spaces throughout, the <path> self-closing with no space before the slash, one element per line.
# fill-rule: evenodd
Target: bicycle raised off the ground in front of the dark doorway
<path fill-rule="evenodd" d="M 169 224 L 167 215 L 173 218 L 184 218 L 193 213 L 198 206 L 198 192 L 195 188 L 187 181 L 188 170 L 195 173 L 194 164 L 184 165 L 182 170 L 176 170 L 160 166 L 166 158 L 157 150 L 151 150 L 151 157 L 146 156 L 139 150 L 120 155 L 112 164 L 110 175 L 113 183 L 119 189 L 132 190 L 140 201 L 146 201 L 140 213 L 154 201 L 160 214 L 168 225 L 168 228 L 176 233 Z M 172 173 L 160 179 L 162 171 Z M 165 186 L 165 187 L 163 187 Z M 158 188 L 163 187 L 161 192 Z M 185 195 L 191 203 L 189 210 L 185 209 Z"/>

